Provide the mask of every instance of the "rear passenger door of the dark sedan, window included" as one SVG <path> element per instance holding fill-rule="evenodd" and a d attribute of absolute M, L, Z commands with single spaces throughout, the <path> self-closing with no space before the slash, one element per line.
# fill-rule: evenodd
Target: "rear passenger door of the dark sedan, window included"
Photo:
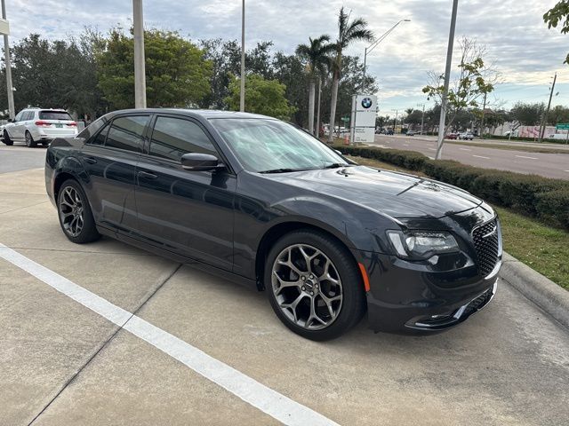
<path fill-rule="evenodd" d="M 81 161 L 89 177 L 85 190 L 100 225 L 124 233 L 131 233 L 137 227 L 136 163 L 149 122 L 149 114 L 116 117 L 90 138 L 82 150 Z"/>

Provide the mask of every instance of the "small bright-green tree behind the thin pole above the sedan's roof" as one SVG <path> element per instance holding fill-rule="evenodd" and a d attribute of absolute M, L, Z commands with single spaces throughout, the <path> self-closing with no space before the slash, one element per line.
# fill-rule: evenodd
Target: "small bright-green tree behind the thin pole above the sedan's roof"
<path fill-rule="evenodd" d="M 269 115 L 288 121 L 294 113 L 294 107 L 284 97 L 286 86 L 277 80 L 265 80 L 262 75 L 247 75 L 245 80 L 245 110 L 248 113 Z M 229 108 L 239 109 L 241 80 L 234 77 L 229 83 L 229 97 L 226 99 Z"/>

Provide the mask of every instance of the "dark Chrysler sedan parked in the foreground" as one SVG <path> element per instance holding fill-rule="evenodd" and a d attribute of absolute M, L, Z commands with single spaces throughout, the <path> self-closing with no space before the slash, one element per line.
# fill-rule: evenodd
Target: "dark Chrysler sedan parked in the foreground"
<path fill-rule="evenodd" d="M 366 312 L 376 331 L 452 327 L 492 299 L 501 266 L 483 201 L 261 115 L 107 114 L 52 142 L 45 185 L 70 241 L 107 235 L 265 290 L 314 340 Z"/>

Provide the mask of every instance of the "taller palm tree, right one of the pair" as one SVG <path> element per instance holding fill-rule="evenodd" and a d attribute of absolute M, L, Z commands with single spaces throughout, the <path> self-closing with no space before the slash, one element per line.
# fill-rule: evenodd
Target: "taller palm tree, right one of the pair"
<path fill-rule="evenodd" d="M 341 73 L 341 55 L 349 44 L 373 40 L 373 32 L 367 29 L 367 21 L 363 18 L 349 20 L 349 13 L 344 12 L 344 7 L 340 9 L 338 17 L 338 39 L 334 46 L 336 47 L 336 57 L 333 60 L 333 84 L 332 84 L 332 105 L 330 107 L 330 132 L 328 134 L 328 143 L 333 141 L 334 122 L 336 121 L 336 103 L 338 102 L 338 83 L 340 82 Z"/>

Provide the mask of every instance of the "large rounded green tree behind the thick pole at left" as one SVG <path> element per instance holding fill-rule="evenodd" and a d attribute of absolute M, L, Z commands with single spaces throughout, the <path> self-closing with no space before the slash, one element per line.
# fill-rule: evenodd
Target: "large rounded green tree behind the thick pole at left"
<path fill-rule="evenodd" d="M 204 51 L 174 31 L 144 32 L 147 104 L 196 106 L 210 92 L 212 63 Z M 99 87 L 116 109 L 134 106 L 134 42 L 120 28 L 110 31 L 97 54 Z"/>

